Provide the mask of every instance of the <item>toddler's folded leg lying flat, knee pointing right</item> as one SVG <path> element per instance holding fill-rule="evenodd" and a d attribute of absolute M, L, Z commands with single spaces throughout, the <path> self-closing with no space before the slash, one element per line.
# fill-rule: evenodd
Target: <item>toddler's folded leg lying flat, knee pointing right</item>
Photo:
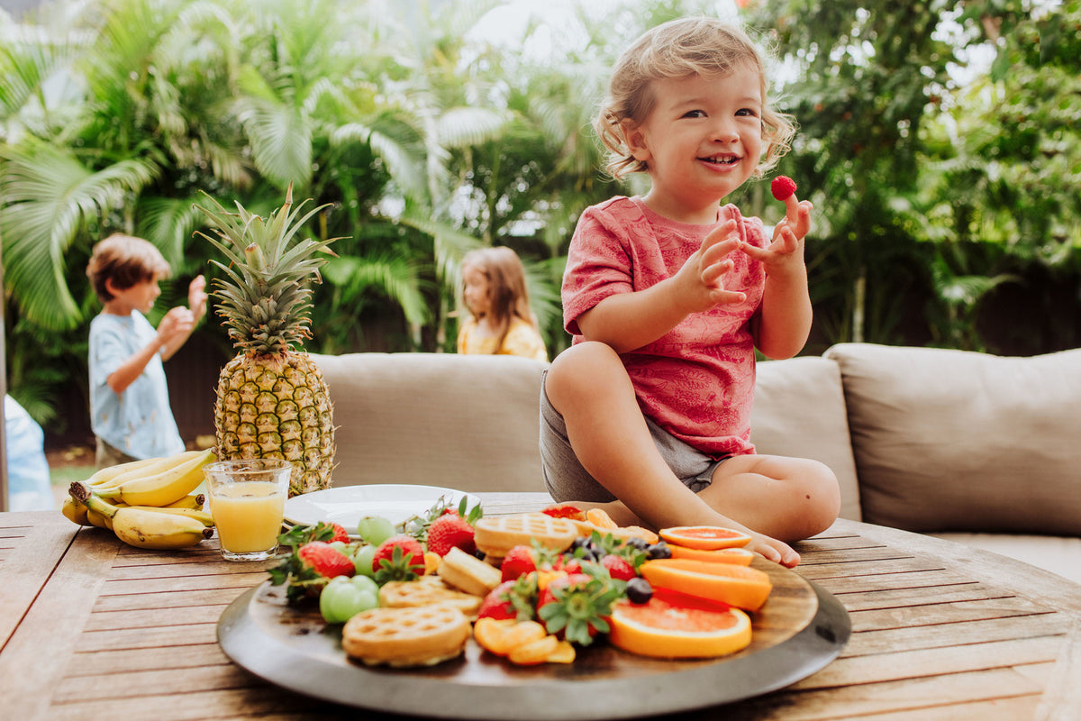
<path fill-rule="evenodd" d="M 837 520 L 841 491 L 825 464 L 808 458 L 729 458 L 698 496 L 718 511 L 785 542 L 822 533 Z"/>

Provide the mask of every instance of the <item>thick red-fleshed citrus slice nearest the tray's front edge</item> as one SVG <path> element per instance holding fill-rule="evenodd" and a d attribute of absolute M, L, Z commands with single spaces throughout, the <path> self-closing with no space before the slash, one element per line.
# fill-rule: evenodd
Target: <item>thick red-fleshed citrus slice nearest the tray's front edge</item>
<path fill-rule="evenodd" d="M 657 588 L 649 602 L 612 607 L 609 641 L 655 658 L 711 658 L 750 643 L 750 618 L 723 603 Z"/>

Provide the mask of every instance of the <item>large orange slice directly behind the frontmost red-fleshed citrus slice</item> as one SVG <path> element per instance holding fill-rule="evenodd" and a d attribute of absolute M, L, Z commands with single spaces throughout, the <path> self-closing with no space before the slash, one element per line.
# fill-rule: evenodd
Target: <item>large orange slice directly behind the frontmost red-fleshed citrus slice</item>
<path fill-rule="evenodd" d="M 665 558 L 646 561 L 638 571 L 654 588 L 670 588 L 746 611 L 761 609 L 773 590 L 763 571 L 731 563 Z"/>

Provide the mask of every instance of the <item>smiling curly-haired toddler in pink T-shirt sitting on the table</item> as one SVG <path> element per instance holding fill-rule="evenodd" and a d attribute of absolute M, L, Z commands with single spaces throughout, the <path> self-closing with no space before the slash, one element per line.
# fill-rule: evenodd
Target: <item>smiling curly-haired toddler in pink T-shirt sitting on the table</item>
<path fill-rule="evenodd" d="M 572 238 L 562 296 L 574 342 L 540 399 L 548 491 L 622 525 L 740 530 L 793 566 L 788 542 L 837 518 L 837 478 L 757 455 L 749 416 L 755 349 L 789 358 L 810 333 L 811 204 L 790 199 L 772 238 L 721 205 L 795 133 L 770 104 L 763 58 L 719 21 L 666 23 L 616 63 L 595 128 L 615 177 L 652 183 L 587 209 Z"/>

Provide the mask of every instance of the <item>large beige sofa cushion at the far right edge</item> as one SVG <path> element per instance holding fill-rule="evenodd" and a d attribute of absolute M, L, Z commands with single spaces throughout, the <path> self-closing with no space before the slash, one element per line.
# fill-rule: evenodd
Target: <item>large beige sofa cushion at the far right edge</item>
<path fill-rule="evenodd" d="M 864 520 L 1081 534 L 1081 350 L 1003 358 L 841 344 Z"/>

